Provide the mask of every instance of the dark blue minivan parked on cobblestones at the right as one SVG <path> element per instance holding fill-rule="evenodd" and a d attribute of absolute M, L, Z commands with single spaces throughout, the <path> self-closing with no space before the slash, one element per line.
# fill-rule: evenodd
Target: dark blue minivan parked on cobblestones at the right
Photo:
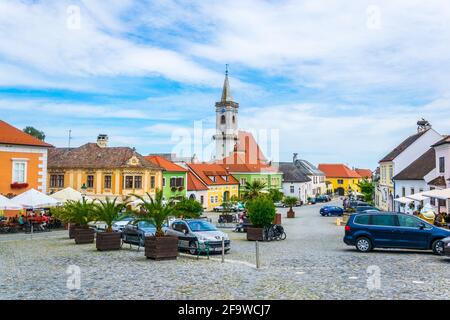
<path fill-rule="evenodd" d="M 433 226 L 413 215 L 396 212 L 360 213 L 349 217 L 344 242 L 361 252 L 373 248 L 433 250 L 441 254 L 439 241 L 450 230 Z"/>

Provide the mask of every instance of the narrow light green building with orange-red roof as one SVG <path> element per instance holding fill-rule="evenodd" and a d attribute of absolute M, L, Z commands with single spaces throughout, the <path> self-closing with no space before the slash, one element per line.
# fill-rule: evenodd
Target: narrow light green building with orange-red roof
<path fill-rule="evenodd" d="M 162 156 L 145 157 L 151 163 L 163 169 L 162 190 L 165 200 L 186 197 L 188 170 Z"/>

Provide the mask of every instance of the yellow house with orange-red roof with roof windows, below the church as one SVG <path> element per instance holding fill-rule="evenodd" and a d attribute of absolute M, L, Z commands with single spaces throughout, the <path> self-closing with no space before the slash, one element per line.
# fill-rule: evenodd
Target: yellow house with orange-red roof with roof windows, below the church
<path fill-rule="evenodd" d="M 207 186 L 204 203 L 207 210 L 212 210 L 232 197 L 239 195 L 239 182 L 222 166 L 209 163 L 190 163 L 189 171 Z"/>

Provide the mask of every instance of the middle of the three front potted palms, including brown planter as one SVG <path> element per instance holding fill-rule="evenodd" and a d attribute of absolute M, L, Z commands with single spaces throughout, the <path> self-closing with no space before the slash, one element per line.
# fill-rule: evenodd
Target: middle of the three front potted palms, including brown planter
<path fill-rule="evenodd" d="M 95 245 L 99 251 L 119 250 L 121 244 L 121 234 L 112 231 L 112 224 L 120 216 L 120 213 L 127 207 L 128 202 L 117 203 L 117 197 L 110 200 L 99 201 L 94 205 L 94 215 L 97 221 L 106 224 L 105 232 L 97 232 Z"/>

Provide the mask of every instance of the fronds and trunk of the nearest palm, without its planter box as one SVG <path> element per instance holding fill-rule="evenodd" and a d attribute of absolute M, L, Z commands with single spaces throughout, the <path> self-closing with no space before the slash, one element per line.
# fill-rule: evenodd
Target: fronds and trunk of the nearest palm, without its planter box
<path fill-rule="evenodd" d="M 153 224 L 156 228 L 155 236 L 163 237 L 164 231 L 162 228 L 164 223 L 170 216 L 175 215 L 175 207 L 172 203 L 164 203 L 164 197 L 162 190 L 157 190 L 155 197 L 153 198 L 149 193 L 147 197 L 134 195 L 141 200 L 138 207 L 141 209 L 139 213 L 134 214 L 136 221 L 146 221 Z"/>

